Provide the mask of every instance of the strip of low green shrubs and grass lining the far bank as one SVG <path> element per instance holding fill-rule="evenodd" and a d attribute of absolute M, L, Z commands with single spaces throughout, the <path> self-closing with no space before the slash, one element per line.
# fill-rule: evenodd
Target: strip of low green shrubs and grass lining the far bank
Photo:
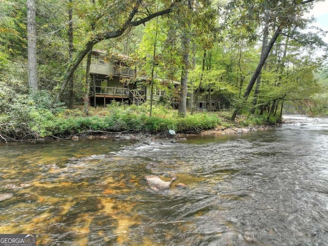
<path fill-rule="evenodd" d="M 221 111 L 197 112 L 179 118 L 176 110 L 155 106 L 150 117 L 146 105 L 124 104 L 112 104 L 107 108 L 90 107 L 89 116 L 85 116 L 82 107 L 48 109 L 26 105 L 24 109 L 0 117 L 0 140 L 22 141 L 121 132 L 164 135 L 168 134 L 169 129 L 176 133 L 191 134 L 213 128 L 275 123 L 275 119 L 268 122 L 265 116 L 240 116 L 235 121 L 231 121 L 230 116 L 230 111 Z"/>

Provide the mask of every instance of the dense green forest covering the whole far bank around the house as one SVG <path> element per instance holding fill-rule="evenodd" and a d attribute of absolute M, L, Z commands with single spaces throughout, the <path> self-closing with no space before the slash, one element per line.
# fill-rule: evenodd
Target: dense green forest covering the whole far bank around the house
<path fill-rule="evenodd" d="M 230 122 L 326 116 L 328 45 L 305 15 L 317 2 L 3 0 L 0 139 L 200 130 L 220 123 L 213 112 Z M 133 76 L 119 77 L 117 87 L 146 88 L 143 105 L 96 105 L 95 51 L 104 64 L 128 58 Z M 104 75 L 107 83 L 115 77 Z M 93 106 L 108 110 L 96 117 Z"/>

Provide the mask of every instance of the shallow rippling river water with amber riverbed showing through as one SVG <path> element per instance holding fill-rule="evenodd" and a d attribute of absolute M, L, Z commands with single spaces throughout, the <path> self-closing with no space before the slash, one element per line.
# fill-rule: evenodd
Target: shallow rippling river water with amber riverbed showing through
<path fill-rule="evenodd" d="M 328 119 L 284 118 L 177 143 L 0 144 L 0 197 L 13 195 L 0 201 L 0 234 L 36 234 L 37 245 L 328 245 Z M 156 192 L 146 175 L 177 180 Z"/>

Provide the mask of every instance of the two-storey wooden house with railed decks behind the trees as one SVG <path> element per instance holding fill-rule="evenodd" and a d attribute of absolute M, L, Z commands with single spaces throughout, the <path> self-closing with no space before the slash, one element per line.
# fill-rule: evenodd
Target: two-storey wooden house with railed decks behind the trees
<path fill-rule="evenodd" d="M 145 83 L 150 78 L 137 75 L 136 66 L 127 55 L 93 50 L 90 77 L 90 103 L 95 107 L 112 101 L 141 104 L 150 100 L 150 86 Z M 153 100 L 163 96 L 165 90 L 154 88 Z"/>

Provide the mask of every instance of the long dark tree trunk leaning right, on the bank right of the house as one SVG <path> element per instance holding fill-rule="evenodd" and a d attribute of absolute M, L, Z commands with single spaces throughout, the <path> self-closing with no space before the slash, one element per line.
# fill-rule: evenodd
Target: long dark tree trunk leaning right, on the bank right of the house
<path fill-rule="evenodd" d="M 271 40 L 270 40 L 269 45 L 265 48 L 265 50 L 263 52 L 263 56 L 261 56 L 260 61 L 259 61 L 258 65 L 257 65 L 257 67 L 256 67 L 256 70 L 255 70 L 255 72 L 254 72 L 254 74 L 253 74 L 253 76 L 252 76 L 252 78 L 251 78 L 251 80 L 250 80 L 250 82 L 249 82 L 249 84 L 248 84 L 248 86 L 246 88 L 246 91 L 245 91 L 245 93 L 243 95 L 243 100 L 244 101 L 246 101 L 248 99 L 248 97 L 250 96 L 250 93 L 252 91 L 252 88 L 253 88 L 256 80 L 257 80 L 257 77 L 260 74 L 265 61 L 267 61 L 268 55 L 270 54 L 270 51 L 271 51 L 273 45 L 275 44 L 275 42 L 276 42 L 276 40 L 277 40 L 280 32 L 281 32 L 281 27 L 278 27 L 276 29 L 276 31 L 274 32 L 273 36 L 271 37 Z M 241 108 L 241 106 L 240 105 L 237 105 L 237 107 L 235 108 L 235 110 L 233 112 L 233 115 L 231 117 L 232 120 L 235 120 L 235 118 L 237 116 L 237 113 L 240 110 L 240 108 Z"/>

